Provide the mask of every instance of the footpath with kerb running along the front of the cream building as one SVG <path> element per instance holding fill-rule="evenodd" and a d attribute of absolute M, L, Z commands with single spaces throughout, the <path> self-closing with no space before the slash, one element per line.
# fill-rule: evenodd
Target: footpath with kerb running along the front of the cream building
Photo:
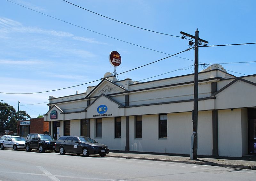
<path fill-rule="evenodd" d="M 231 167 L 238 169 L 256 170 L 256 156 L 244 155 L 243 157 L 220 157 L 220 156 L 197 156 L 197 160 L 190 160 L 190 155 L 161 154 L 161 153 L 141 153 L 141 152 L 121 152 L 111 151 L 107 157 L 151 160 L 161 162 L 176 162 L 196 165 L 212 165 L 220 167 Z"/>

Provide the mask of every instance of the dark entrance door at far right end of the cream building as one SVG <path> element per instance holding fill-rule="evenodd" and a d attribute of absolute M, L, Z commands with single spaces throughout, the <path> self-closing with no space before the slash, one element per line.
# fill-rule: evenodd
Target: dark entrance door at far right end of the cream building
<path fill-rule="evenodd" d="M 249 153 L 256 154 L 256 119 L 249 119 Z"/>

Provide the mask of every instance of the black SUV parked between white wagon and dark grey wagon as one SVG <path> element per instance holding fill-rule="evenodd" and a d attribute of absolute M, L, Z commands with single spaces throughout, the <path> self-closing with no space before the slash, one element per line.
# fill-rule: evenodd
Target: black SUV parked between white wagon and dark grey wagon
<path fill-rule="evenodd" d="M 27 151 L 38 149 L 40 153 L 44 153 L 45 150 L 55 151 L 55 142 L 56 140 L 49 134 L 31 133 L 26 138 L 25 146 Z"/>

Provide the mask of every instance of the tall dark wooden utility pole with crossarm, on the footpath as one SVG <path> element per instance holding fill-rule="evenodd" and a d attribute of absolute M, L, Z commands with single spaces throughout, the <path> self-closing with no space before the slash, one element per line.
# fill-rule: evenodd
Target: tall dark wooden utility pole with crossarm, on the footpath
<path fill-rule="evenodd" d="M 191 160 L 196 160 L 197 159 L 197 118 L 198 118 L 198 45 L 199 42 L 208 43 L 208 41 L 205 41 L 201 38 L 199 38 L 199 31 L 196 29 L 196 34 L 195 36 L 191 34 L 187 34 L 184 32 L 180 32 L 183 34 L 182 37 L 188 36 L 191 39 L 195 39 L 195 75 L 194 75 L 194 109 L 192 110 L 192 120 L 193 120 L 193 134 L 191 138 L 191 150 L 192 153 L 190 155 Z M 189 45 L 193 45 L 193 41 L 189 41 Z M 193 143 L 192 143 L 193 142 Z"/>

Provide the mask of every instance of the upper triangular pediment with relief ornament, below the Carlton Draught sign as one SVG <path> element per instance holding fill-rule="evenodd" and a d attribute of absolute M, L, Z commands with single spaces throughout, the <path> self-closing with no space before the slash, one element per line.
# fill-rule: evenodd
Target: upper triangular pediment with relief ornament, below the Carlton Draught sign
<path fill-rule="evenodd" d="M 103 79 L 86 97 L 97 97 L 100 94 L 115 94 L 127 91 L 124 87 L 112 82 L 108 79 Z"/>

